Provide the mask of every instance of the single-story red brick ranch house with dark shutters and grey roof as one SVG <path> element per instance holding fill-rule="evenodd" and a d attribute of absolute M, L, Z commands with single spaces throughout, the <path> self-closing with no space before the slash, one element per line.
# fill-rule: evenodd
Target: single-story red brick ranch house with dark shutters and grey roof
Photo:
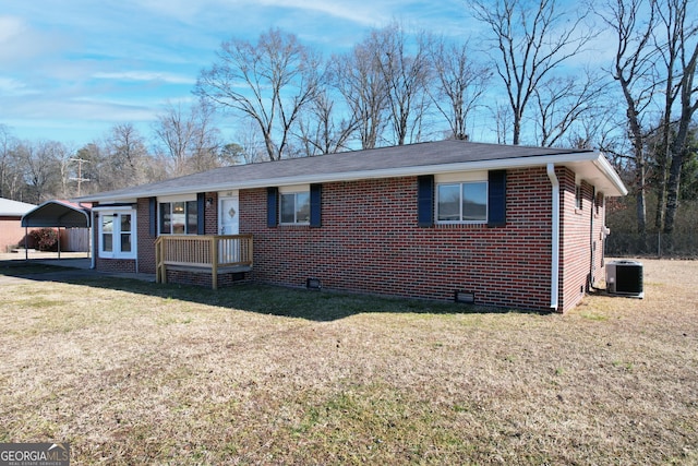
<path fill-rule="evenodd" d="M 626 193 L 599 152 L 442 141 L 79 201 L 97 270 L 564 312 L 604 278 L 605 198 Z"/>

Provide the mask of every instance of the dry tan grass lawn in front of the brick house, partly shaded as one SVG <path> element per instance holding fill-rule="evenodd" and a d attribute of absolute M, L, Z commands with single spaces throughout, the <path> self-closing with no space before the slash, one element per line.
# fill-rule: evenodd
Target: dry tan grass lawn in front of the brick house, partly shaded
<path fill-rule="evenodd" d="M 698 463 L 698 262 L 565 315 L 131 280 L 3 286 L 0 442 L 76 464 Z"/>

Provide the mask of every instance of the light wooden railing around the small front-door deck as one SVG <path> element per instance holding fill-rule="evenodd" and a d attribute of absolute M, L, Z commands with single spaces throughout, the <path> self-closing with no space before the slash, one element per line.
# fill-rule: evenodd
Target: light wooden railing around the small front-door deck
<path fill-rule="evenodd" d="M 155 241 L 157 283 L 167 283 L 167 268 L 209 270 L 212 288 L 218 272 L 252 267 L 252 235 L 164 235 Z"/>

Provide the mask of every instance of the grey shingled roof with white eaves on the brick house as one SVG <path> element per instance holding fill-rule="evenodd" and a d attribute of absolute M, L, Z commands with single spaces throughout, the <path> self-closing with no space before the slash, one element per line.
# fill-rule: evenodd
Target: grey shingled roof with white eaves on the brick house
<path fill-rule="evenodd" d="M 449 140 L 233 165 L 160 182 L 85 195 L 76 201 L 127 202 L 157 195 L 533 167 L 545 166 L 549 163 L 574 166 L 576 172 L 581 171 L 607 195 L 627 193 L 615 170 L 599 152 Z"/>

